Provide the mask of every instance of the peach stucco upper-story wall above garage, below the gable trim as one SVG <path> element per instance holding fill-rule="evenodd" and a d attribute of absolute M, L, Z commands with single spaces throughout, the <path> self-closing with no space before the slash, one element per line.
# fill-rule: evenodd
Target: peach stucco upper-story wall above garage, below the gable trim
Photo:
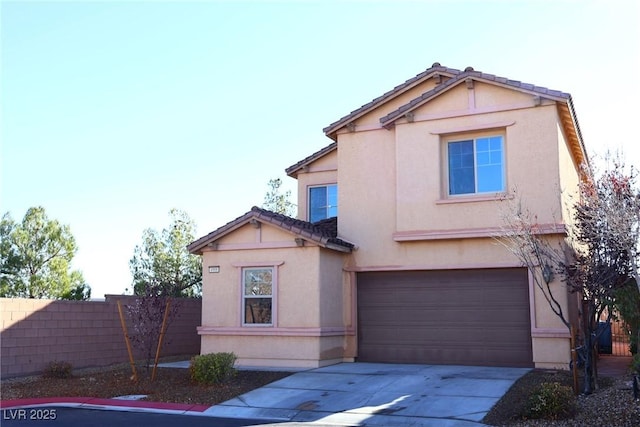
<path fill-rule="evenodd" d="M 540 222 L 557 220 L 556 215 L 561 210 L 558 164 L 550 161 L 558 156 L 555 107 L 486 114 L 483 120 L 485 124 L 513 123 L 475 133 L 504 134 L 507 192 L 515 188 L 526 205 L 535 207 Z M 433 246 L 414 245 L 409 250 L 403 246 L 406 243 L 398 244 L 393 240 L 396 232 L 503 226 L 501 212 L 507 208 L 496 200 L 499 195 L 473 200 L 447 198 L 443 194 L 446 191 L 443 136 L 433 134 L 432 130 L 451 129 L 453 132 L 466 124 L 468 121 L 464 118 L 450 118 L 398 125 L 390 131 L 340 136 L 340 235 L 358 244 L 359 249 L 353 254 L 357 265 L 404 265 L 412 256 L 437 262 L 431 260 L 430 254 L 423 253 Z M 469 132 L 461 135 L 469 135 Z M 367 190 L 363 191 L 363 188 Z M 486 245 L 487 241 L 439 244 L 439 251 L 447 252 L 436 257 L 459 259 L 462 250 L 478 254 L 464 258 L 464 262 L 472 264 L 505 259 L 504 249 L 500 255 L 492 257 L 489 255 L 492 251 L 483 248 Z"/>

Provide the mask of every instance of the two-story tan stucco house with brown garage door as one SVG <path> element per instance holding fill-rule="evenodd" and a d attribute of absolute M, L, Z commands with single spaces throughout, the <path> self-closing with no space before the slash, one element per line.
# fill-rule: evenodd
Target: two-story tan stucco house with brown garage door
<path fill-rule="evenodd" d="M 495 236 L 517 187 L 547 237 L 564 238 L 587 160 L 569 94 L 435 63 L 324 133 L 330 145 L 286 169 L 297 218 L 254 207 L 189 245 L 203 257 L 202 353 L 567 366 L 539 273 Z"/>

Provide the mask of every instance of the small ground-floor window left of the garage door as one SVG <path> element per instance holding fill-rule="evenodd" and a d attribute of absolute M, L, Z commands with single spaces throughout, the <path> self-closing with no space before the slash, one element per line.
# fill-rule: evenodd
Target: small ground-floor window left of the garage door
<path fill-rule="evenodd" d="M 273 267 L 242 270 L 242 305 L 245 325 L 273 322 Z"/>

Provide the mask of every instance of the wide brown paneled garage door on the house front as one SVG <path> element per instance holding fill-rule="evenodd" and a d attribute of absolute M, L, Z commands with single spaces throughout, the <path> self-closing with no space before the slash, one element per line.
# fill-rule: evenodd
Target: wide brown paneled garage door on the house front
<path fill-rule="evenodd" d="M 358 273 L 358 360 L 533 366 L 526 269 Z"/>

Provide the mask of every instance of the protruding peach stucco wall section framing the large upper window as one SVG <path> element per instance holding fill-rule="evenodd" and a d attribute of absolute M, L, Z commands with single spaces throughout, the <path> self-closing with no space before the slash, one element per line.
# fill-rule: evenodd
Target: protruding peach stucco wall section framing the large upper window
<path fill-rule="evenodd" d="M 557 197 L 556 113 L 553 106 L 535 110 L 514 110 L 485 114 L 477 121 L 478 131 L 466 129 L 469 121 L 451 118 L 398 125 L 395 128 L 397 171 L 397 231 L 447 230 L 502 225 L 500 210 L 493 198 L 447 196 L 446 145 L 444 141 L 459 136 L 504 136 L 506 181 L 505 190 L 515 189 L 540 212 L 540 220 L 553 221 L 553 212 L 560 210 Z M 493 129 L 483 129 L 492 123 Z M 437 133 L 434 131 L 447 133 Z M 532 177 L 535 177 L 533 179 Z M 487 200 L 488 199 L 488 200 Z M 362 201 L 352 201 L 361 206 Z"/>

